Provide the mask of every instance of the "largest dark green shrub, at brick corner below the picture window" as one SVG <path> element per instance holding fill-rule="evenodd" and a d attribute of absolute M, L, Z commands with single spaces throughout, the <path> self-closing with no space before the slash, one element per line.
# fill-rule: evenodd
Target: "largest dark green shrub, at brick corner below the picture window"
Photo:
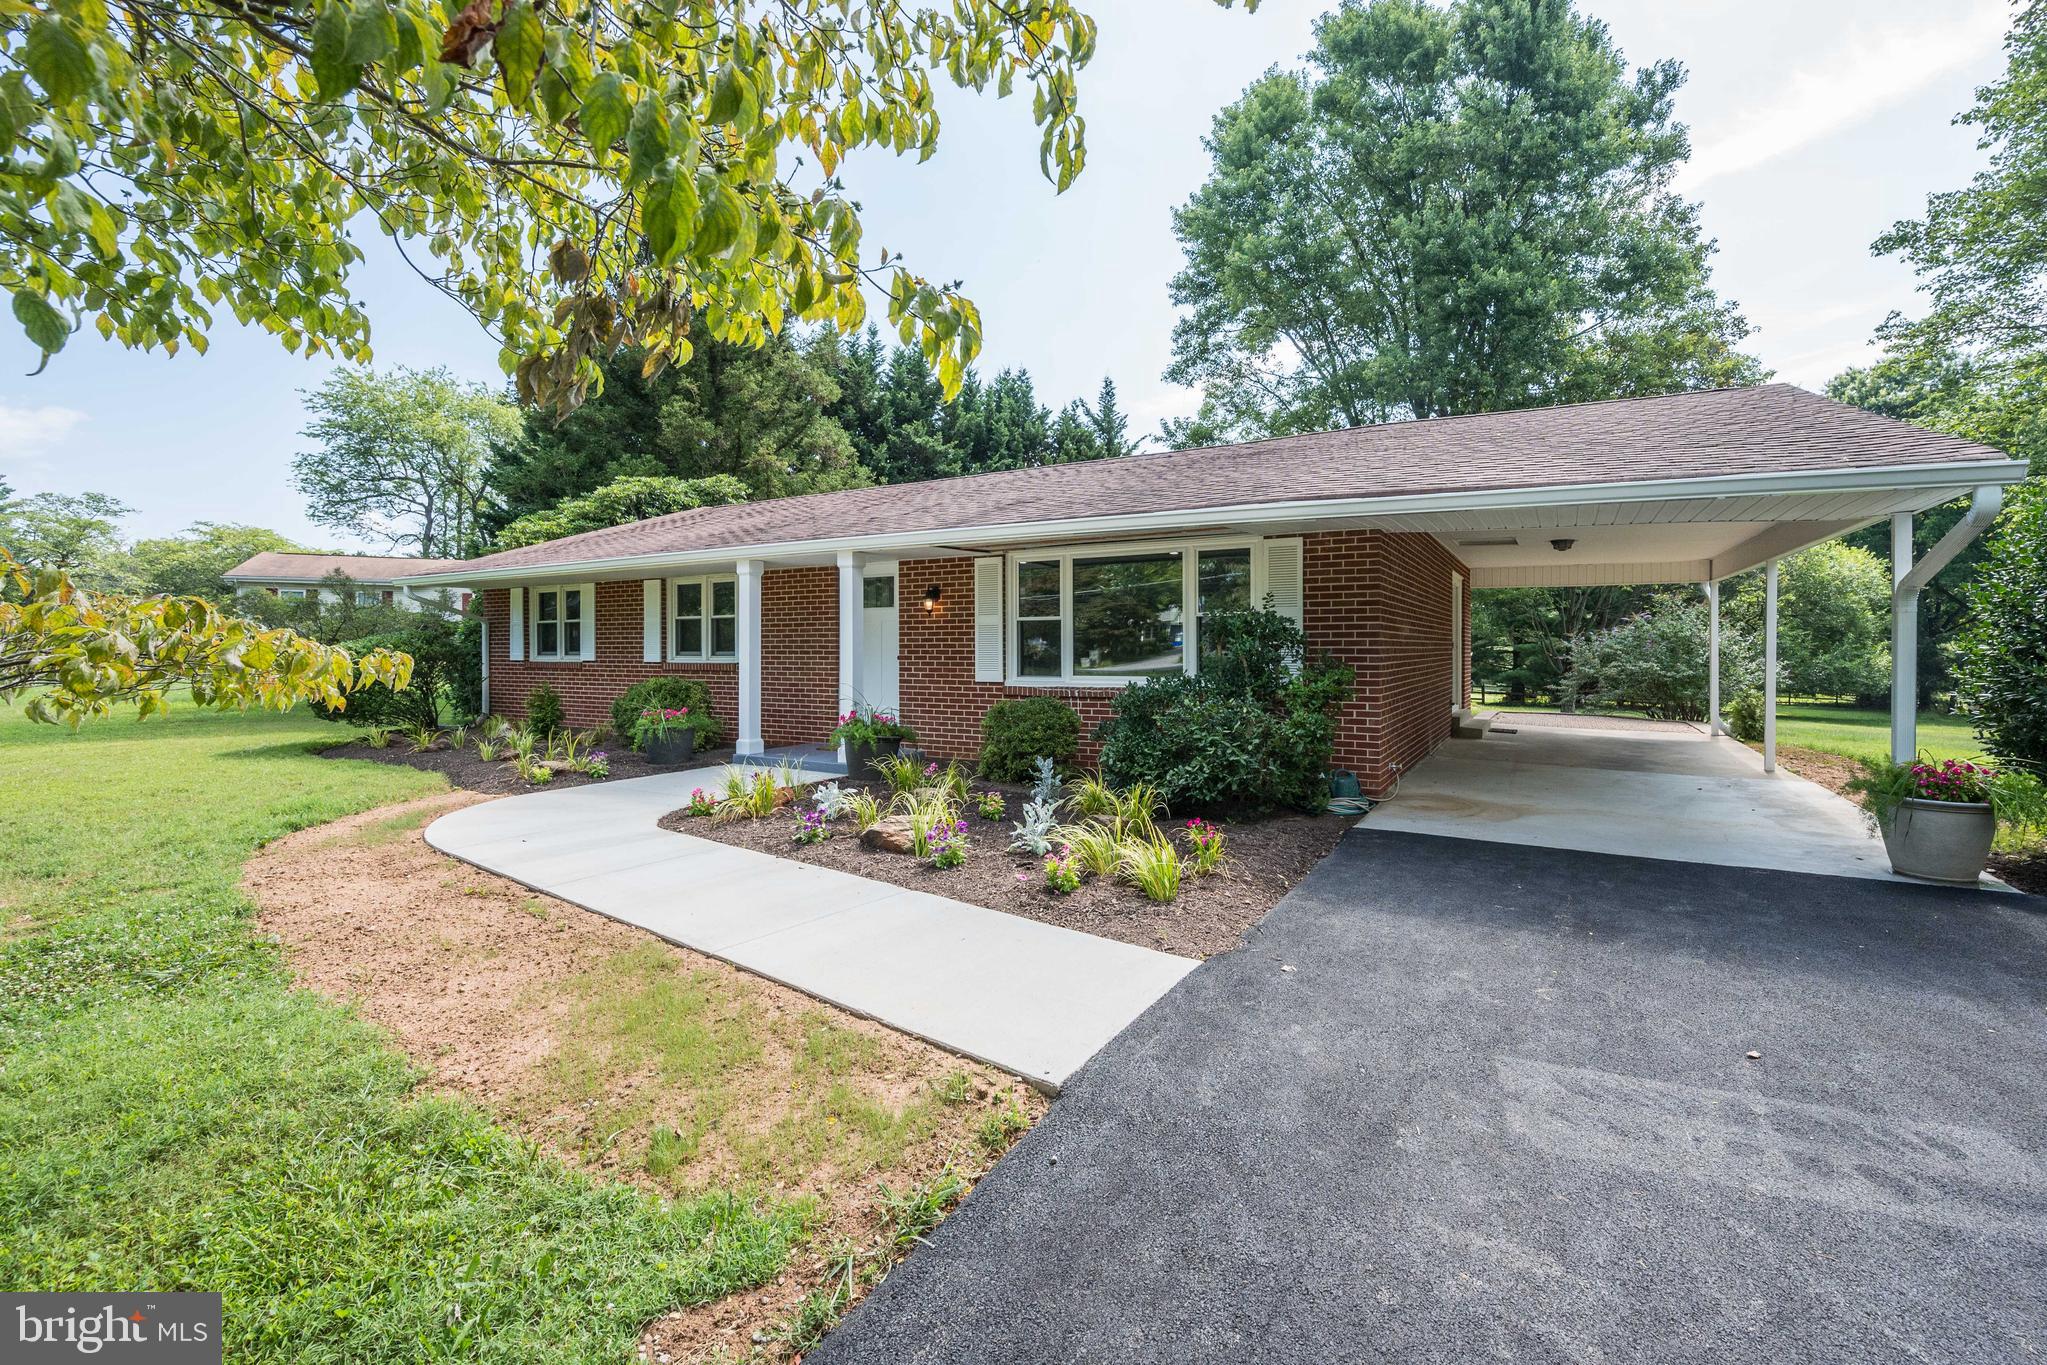
<path fill-rule="evenodd" d="M 1300 626 L 1277 612 L 1204 622 L 1195 677 L 1124 688 L 1101 726 L 1112 786 L 1148 784 L 1171 810 L 1320 810 L 1337 749 L 1335 708 L 1351 669 L 1310 661 Z"/>

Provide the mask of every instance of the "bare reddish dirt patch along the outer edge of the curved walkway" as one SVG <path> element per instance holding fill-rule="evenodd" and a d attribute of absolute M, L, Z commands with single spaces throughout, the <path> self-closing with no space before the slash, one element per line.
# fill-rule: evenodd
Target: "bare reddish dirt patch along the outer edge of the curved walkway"
<path fill-rule="evenodd" d="M 821 1281 L 852 1259 L 858 1297 L 897 1254 L 884 1185 L 950 1203 L 1044 1113 L 1013 1076 L 426 847 L 475 800 L 289 835 L 244 886 L 299 982 L 387 1027 L 436 1089 L 610 1179 L 811 1209 L 776 1281 L 655 1322 L 649 1359 L 788 1355 Z"/>

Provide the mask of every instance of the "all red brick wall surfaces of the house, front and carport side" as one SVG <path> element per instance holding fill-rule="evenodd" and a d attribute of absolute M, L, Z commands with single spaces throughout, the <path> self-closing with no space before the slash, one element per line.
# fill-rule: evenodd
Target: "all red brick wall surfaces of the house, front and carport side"
<path fill-rule="evenodd" d="M 1304 538 L 1308 647 L 1357 669 L 1357 688 L 1337 724 L 1337 763 L 1357 772 L 1367 792 L 1386 792 L 1449 737 L 1449 575 L 1462 565 L 1433 536 L 1324 532 Z M 981 716 L 1005 696 L 1056 696 L 1081 712 L 1081 761 L 1093 763 L 1093 731 L 1109 718 L 1109 688 L 1009 688 L 974 681 L 974 561 L 923 559 L 901 565 L 897 612 L 903 718 L 935 757 L 972 757 Z M 938 585 L 940 606 L 923 608 Z M 770 745 L 821 741 L 835 722 L 839 692 L 837 573 L 770 569 L 761 575 L 761 739 Z M 1472 593 L 1466 585 L 1466 643 Z M 604 724 L 612 700 L 659 673 L 702 677 L 735 735 L 739 679 L 731 663 L 643 663 L 641 581 L 598 583 L 598 657 L 590 663 L 512 663 L 508 596 L 483 593 L 491 634 L 491 710 L 518 716 L 542 681 L 555 686 L 571 724 Z M 1466 653 L 1464 696 L 1470 696 Z"/>

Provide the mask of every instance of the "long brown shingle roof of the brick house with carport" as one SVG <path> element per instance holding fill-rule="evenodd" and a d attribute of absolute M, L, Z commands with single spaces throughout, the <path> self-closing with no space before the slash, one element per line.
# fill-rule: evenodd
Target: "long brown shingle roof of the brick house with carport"
<path fill-rule="evenodd" d="M 970 530 L 1245 503 L 1400 497 L 2000 458 L 1791 385 L 1390 422 L 927 483 L 696 508 L 473 559 L 573 565 L 858 534 Z"/>

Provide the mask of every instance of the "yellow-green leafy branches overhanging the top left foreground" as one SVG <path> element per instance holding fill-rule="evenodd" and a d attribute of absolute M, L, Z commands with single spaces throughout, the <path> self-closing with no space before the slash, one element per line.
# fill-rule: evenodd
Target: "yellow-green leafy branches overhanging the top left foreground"
<path fill-rule="evenodd" d="M 1032 92 L 1040 168 L 1087 160 L 1066 0 L 51 0 L 0 20 L 0 289 L 47 356 L 78 325 L 205 348 L 215 311 L 366 364 L 356 233 L 573 407 L 624 342 L 843 329 L 866 289 L 948 391 L 981 342 L 952 287 L 866 252 L 852 151 L 929 158 L 935 88 Z"/>

